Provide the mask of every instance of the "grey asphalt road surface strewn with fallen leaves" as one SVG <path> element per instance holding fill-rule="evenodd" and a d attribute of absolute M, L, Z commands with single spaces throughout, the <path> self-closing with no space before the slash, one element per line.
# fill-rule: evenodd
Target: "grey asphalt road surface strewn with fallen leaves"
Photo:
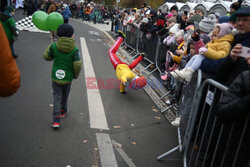
<path fill-rule="evenodd" d="M 16 12 L 16 20 L 23 18 Z M 70 21 L 75 29 L 75 40 L 82 51 L 84 38 L 97 79 L 115 79 L 106 41 L 102 32 L 85 24 Z M 121 95 L 117 89 L 100 89 L 108 130 L 90 128 L 90 104 L 83 67 L 71 86 L 69 114 L 60 129 L 50 127 L 52 121 L 51 67 L 42 55 L 50 44 L 49 34 L 20 31 L 15 43 L 19 55 L 21 87 L 8 98 L 0 99 L 0 166 L 1 167 L 97 167 L 105 165 L 106 145 L 98 136 L 107 135 L 116 141 L 128 158 L 113 146 L 117 166 L 179 167 L 180 153 L 157 161 L 156 157 L 177 145 L 176 128 L 156 110 L 143 90 L 129 90 Z M 87 53 L 81 53 L 86 55 Z M 85 56 L 83 56 L 85 58 Z M 83 61 L 85 61 L 83 59 Z M 102 138 L 103 139 L 103 138 Z M 103 152 L 104 148 L 104 152 Z M 124 155 L 124 154 L 122 154 Z M 102 160 L 104 159 L 104 161 Z"/>

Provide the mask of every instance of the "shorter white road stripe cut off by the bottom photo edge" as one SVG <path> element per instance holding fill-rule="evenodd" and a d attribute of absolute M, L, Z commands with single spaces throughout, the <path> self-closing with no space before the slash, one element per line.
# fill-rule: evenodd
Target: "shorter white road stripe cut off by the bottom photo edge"
<path fill-rule="evenodd" d="M 96 133 L 102 167 L 118 167 L 109 134 Z"/>

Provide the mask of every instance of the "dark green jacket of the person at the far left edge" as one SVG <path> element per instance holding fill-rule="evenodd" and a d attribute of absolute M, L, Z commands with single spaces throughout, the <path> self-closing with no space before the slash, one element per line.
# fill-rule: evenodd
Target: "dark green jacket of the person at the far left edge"
<path fill-rule="evenodd" d="M 9 40 L 14 40 L 17 36 L 16 22 L 10 13 L 3 12 L 0 15 L 0 21 L 3 24 L 4 31 Z"/>

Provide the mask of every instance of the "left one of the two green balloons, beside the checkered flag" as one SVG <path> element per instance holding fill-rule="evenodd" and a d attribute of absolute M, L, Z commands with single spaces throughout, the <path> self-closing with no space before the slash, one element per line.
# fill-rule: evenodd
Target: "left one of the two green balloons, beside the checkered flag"
<path fill-rule="evenodd" d="M 38 29 L 43 31 L 48 31 L 49 29 L 47 26 L 47 17 L 48 17 L 47 13 L 43 11 L 36 11 L 32 15 L 32 22 Z"/>

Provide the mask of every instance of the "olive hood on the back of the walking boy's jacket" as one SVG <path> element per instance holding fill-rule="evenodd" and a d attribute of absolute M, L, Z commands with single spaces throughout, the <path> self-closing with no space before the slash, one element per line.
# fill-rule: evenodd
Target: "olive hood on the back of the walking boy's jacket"
<path fill-rule="evenodd" d="M 60 37 L 56 43 L 59 51 L 63 53 L 70 53 L 74 50 L 76 44 L 75 40 L 69 37 Z"/>

